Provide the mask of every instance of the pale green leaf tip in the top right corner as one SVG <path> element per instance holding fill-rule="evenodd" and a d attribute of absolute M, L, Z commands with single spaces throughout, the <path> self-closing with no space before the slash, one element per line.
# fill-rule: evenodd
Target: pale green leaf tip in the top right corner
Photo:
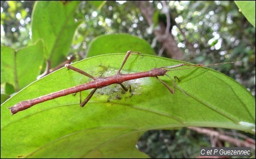
<path fill-rule="evenodd" d="M 245 15 L 246 19 L 255 27 L 255 1 L 234 1 Z"/>

